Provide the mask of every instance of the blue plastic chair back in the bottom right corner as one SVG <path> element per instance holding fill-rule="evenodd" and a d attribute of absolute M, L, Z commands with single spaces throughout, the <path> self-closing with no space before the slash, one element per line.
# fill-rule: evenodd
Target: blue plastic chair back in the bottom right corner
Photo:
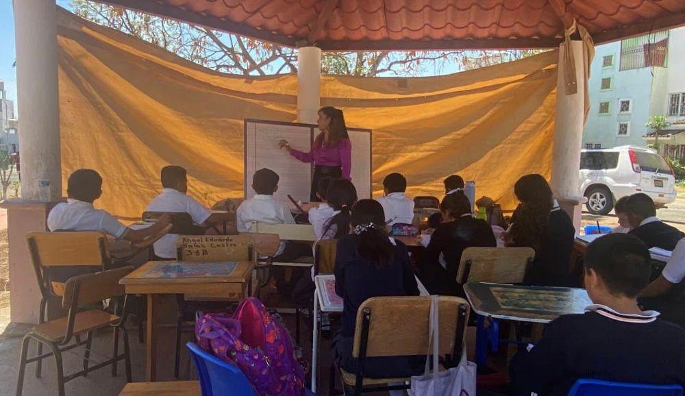
<path fill-rule="evenodd" d="M 631 384 L 601 380 L 577 380 L 568 396 L 682 396 L 680 385 Z"/>

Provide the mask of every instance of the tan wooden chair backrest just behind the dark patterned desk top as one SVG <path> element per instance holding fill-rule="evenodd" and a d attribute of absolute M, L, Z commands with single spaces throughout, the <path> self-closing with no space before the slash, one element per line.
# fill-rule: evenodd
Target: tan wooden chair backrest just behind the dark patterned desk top
<path fill-rule="evenodd" d="M 534 258 L 530 247 L 467 247 L 459 262 L 457 283 L 521 283 Z"/>

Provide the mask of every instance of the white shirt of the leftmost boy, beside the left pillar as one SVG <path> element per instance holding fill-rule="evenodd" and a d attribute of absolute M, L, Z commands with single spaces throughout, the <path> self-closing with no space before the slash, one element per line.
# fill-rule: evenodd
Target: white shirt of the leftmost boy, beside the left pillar
<path fill-rule="evenodd" d="M 47 216 L 47 227 L 50 231 L 99 231 L 123 238 L 128 227 L 105 210 L 95 209 L 90 202 L 78 199 L 67 199 L 58 203 Z"/>

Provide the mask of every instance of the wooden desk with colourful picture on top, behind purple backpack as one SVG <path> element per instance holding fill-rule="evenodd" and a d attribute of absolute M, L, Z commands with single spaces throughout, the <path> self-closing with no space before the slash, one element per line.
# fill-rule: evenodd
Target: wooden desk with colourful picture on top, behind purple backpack
<path fill-rule="evenodd" d="M 221 264 L 224 264 L 223 271 Z M 229 263 L 151 261 L 142 265 L 120 284 L 127 294 L 147 295 L 147 343 L 145 345 L 145 380 L 157 380 L 157 325 L 155 307 L 163 294 L 192 294 L 198 297 L 240 300 L 249 295 L 253 262 Z M 188 272 L 188 269 L 195 271 Z"/>

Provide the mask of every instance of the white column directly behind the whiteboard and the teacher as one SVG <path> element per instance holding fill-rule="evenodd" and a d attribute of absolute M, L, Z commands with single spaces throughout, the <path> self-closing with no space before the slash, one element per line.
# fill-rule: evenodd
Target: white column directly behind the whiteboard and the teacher
<path fill-rule="evenodd" d="M 297 121 L 315 124 L 321 106 L 321 49 L 297 49 Z"/>

